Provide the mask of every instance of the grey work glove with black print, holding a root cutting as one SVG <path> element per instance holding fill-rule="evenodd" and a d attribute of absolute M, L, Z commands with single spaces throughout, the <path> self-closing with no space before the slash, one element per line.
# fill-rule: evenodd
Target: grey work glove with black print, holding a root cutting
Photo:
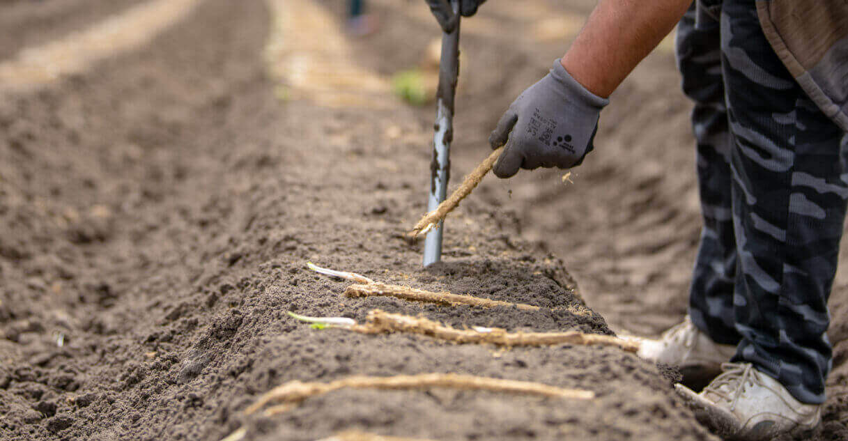
<path fill-rule="evenodd" d="M 557 59 L 548 75 L 510 104 L 488 137 L 492 148 L 506 144 L 494 174 L 506 178 L 519 168 L 580 165 L 594 148 L 600 109 L 607 103 L 572 78 Z"/>

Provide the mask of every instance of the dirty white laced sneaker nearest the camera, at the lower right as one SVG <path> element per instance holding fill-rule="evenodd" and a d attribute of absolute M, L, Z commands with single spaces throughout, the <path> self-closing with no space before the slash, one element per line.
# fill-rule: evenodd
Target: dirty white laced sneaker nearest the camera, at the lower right
<path fill-rule="evenodd" d="M 674 386 L 698 420 L 722 438 L 744 441 L 772 439 L 789 433 L 811 433 L 822 420 L 822 405 L 805 405 L 777 380 L 750 363 L 725 363 L 700 394 Z"/>

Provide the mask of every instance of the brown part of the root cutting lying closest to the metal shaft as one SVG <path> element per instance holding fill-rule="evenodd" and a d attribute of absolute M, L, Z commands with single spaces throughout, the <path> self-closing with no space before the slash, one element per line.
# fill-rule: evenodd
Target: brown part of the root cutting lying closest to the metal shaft
<path fill-rule="evenodd" d="M 427 302 L 452 306 L 455 304 L 470 304 L 472 306 L 483 306 L 483 308 L 494 308 L 495 306 L 515 306 L 519 310 L 540 310 L 532 304 L 516 304 L 501 300 L 483 299 L 470 295 L 454 293 L 434 293 L 414 287 L 402 287 L 399 285 L 388 285 L 386 283 L 374 282 L 366 285 L 351 285 L 344 290 L 348 297 L 388 296 L 416 302 Z"/>

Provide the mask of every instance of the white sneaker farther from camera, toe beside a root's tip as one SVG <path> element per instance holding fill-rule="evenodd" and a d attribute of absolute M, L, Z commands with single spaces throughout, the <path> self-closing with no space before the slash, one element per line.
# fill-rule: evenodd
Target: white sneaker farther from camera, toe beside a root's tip
<path fill-rule="evenodd" d="M 689 315 L 658 340 L 636 340 L 639 341 L 639 357 L 644 360 L 675 366 L 683 377 L 708 377 L 707 381 L 720 374 L 722 363 L 736 354 L 736 346 L 713 342 L 692 324 Z"/>

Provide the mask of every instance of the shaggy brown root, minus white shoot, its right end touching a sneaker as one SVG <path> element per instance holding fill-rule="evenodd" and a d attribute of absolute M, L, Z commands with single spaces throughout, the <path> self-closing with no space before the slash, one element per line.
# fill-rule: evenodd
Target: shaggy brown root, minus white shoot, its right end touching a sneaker
<path fill-rule="evenodd" d="M 577 331 L 569 332 L 506 332 L 494 328 L 488 332 L 472 329 L 455 329 L 444 326 L 438 321 L 424 317 L 391 314 L 382 310 L 372 310 L 368 313 L 365 325 L 347 327 L 362 333 L 411 332 L 439 338 L 454 343 L 491 343 L 501 346 L 550 346 L 554 344 L 600 345 L 615 346 L 628 352 L 636 352 L 639 345 L 635 342 L 608 335 L 587 334 Z"/>

